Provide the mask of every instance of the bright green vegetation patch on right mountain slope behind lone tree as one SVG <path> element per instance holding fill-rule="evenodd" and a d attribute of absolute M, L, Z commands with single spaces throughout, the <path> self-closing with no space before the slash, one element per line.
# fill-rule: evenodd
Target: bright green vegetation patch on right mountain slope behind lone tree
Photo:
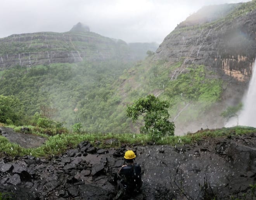
<path fill-rule="evenodd" d="M 166 61 L 152 61 L 151 58 L 148 57 L 145 61 L 137 63 L 119 78 L 126 83 L 123 91 L 120 92 L 126 93 L 125 103 L 133 102 L 149 93 L 160 95 L 161 100 L 170 102 L 171 119 L 186 107 L 186 112 L 180 113 L 180 117 L 175 121 L 176 124 L 195 121 L 202 113 L 209 110 L 211 105 L 220 100 L 223 81 L 216 78 L 216 74 L 205 66 L 192 64 L 184 68 L 183 58 L 173 64 Z M 138 122 L 134 127 L 138 130 L 140 126 L 141 122 Z"/>

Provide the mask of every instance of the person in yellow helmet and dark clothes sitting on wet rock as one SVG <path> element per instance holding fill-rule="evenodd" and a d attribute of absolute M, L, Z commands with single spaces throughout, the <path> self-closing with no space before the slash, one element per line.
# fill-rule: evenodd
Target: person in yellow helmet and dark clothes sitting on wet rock
<path fill-rule="evenodd" d="M 128 150 L 125 152 L 126 164 L 119 169 L 116 176 L 121 180 L 123 187 L 119 190 L 114 200 L 125 199 L 126 196 L 133 196 L 140 191 L 142 186 L 141 166 L 140 164 L 133 163 L 135 157 L 136 155 L 133 151 Z"/>

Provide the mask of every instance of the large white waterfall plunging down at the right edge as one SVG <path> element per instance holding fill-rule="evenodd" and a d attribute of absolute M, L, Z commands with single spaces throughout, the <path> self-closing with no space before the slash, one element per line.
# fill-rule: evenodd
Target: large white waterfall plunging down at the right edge
<path fill-rule="evenodd" d="M 238 118 L 232 118 L 225 125 L 231 127 L 237 125 L 256 127 L 256 62 L 253 66 L 253 75 L 251 77 L 249 88 L 243 98 L 243 108 L 238 115 Z"/>

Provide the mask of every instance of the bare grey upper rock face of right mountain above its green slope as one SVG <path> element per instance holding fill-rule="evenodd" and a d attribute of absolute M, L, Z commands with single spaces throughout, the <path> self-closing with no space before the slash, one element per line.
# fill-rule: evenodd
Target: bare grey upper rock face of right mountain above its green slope
<path fill-rule="evenodd" d="M 171 32 L 158 58 L 204 64 L 238 81 L 251 76 L 256 52 L 256 2 L 204 7 Z"/>

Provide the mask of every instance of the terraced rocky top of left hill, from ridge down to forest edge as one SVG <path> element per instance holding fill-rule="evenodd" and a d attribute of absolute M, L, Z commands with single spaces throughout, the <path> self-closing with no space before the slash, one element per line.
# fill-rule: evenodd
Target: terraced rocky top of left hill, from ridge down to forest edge
<path fill-rule="evenodd" d="M 16 65 L 30 67 L 38 64 L 76 63 L 82 60 L 135 61 L 143 59 L 148 50 L 145 48 L 138 54 L 124 41 L 74 30 L 66 33 L 15 34 L 0 39 L 0 44 L 0 69 Z M 155 44 L 152 47 L 155 50 L 157 48 Z"/>

